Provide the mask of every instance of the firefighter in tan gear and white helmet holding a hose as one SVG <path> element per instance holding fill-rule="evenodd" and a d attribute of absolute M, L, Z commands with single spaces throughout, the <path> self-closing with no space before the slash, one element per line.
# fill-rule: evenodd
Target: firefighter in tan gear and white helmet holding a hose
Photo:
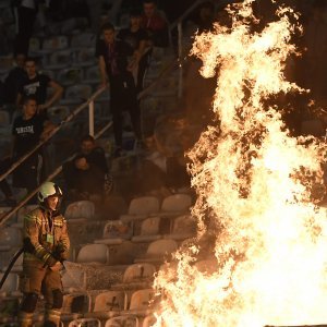
<path fill-rule="evenodd" d="M 45 326 L 60 324 L 62 283 L 60 270 L 69 256 L 70 240 L 66 221 L 59 213 L 62 192 L 52 182 L 45 182 L 38 192 L 39 206 L 24 218 L 24 258 L 21 291 L 24 294 L 19 322 L 33 325 L 37 300 L 46 300 Z"/>

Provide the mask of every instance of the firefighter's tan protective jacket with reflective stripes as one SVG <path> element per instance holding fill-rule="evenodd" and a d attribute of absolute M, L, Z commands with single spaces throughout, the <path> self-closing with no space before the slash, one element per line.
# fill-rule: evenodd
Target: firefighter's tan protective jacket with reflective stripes
<path fill-rule="evenodd" d="M 43 206 L 24 218 L 24 262 L 41 262 L 53 266 L 69 256 L 70 240 L 62 215 Z"/>

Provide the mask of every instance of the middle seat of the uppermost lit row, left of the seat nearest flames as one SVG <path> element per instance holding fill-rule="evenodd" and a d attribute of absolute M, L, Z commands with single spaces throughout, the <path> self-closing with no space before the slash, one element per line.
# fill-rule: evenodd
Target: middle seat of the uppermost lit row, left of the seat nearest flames
<path fill-rule="evenodd" d="M 131 221 L 134 219 L 144 219 L 149 215 L 159 211 L 159 201 L 155 196 L 142 196 L 133 198 L 129 206 L 129 214 L 120 217 L 123 221 Z"/>

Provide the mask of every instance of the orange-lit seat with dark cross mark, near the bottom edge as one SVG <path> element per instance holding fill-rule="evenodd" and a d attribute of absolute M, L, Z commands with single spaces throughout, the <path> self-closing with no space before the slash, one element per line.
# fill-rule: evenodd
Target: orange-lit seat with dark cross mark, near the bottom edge
<path fill-rule="evenodd" d="M 95 298 L 94 308 L 84 315 L 85 318 L 108 319 L 118 316 L 125 308 L 125 293 L 107 291 Z"/>

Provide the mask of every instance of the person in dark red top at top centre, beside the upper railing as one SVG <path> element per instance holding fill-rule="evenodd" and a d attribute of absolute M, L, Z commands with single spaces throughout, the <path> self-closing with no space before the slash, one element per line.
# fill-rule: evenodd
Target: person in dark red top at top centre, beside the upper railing
<path fill-rule="evenodd" d="M 148 34 L 150 45 L 160 48 L 168 47 L 168 24 L 162 14 L 157 10 L 155 0 L 144 0 L 143 11 L 142 26 Z"/>

